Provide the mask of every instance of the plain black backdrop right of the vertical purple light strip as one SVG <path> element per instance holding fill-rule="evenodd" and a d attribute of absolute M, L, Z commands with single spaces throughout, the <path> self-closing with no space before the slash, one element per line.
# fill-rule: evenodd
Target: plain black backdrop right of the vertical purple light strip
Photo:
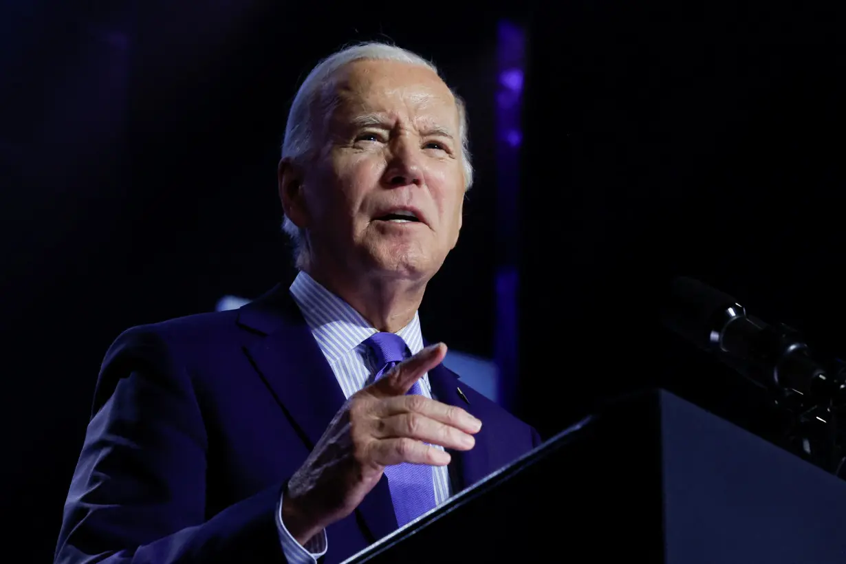
<path fill-rule="evenodd" d="M 525 417 L 552 432 L 660 384 L 772 432 L 761 394 L 657 312 L 671 277 L 698 277 L 843 352 L 843 18 L 833 3 L 550 9 L 526 92 Z"/>

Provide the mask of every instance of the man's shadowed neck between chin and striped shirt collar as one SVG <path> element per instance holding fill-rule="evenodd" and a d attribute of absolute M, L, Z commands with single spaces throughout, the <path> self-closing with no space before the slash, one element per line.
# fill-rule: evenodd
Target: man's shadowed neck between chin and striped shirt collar
<path fill-rule="evenodd" d="M 377 331 L 396 333 L 414 319 L 426 282 L 391 277 L 332 276 L 311 264 L 303 269 L 322 287 L 358 311 Z"/>

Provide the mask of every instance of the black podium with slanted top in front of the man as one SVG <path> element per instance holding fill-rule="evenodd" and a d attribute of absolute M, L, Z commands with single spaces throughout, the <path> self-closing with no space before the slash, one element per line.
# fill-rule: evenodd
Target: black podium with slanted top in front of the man
<path fill-rule="evenodd" d="M 453 561 L 846 564 L 846 482 L 645 392 L 346 562 Z"/>

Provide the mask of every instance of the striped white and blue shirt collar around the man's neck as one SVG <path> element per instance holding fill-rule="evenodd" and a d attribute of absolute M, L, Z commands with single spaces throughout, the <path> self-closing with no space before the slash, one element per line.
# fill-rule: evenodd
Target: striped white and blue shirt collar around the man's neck
<path fill-rule="evenodd" d="M 365 320 L 353 306 L 322 287 L 304 271 L 300 271 L 290 287 L 291 295 L 303 313 L 311 334 L 330 363 L 358 348 L 376 328 Z M 412 354 L 423 349 L 423 335 L 420 332 L 420 316 L 415 316 L 397 335 L 409 347 Z"/>

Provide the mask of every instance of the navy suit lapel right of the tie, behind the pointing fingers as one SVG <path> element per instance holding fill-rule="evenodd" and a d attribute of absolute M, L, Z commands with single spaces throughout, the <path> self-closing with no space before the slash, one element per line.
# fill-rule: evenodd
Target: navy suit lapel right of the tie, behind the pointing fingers
<path fill-rule="evenodd" d="M 481 402 L 467 403 L 459 396 L 459 376 L 443 364 L 438 364 L 436 368 L 429 371 L 429 385 L 437 401 L 458 406 L 482 421 L 481 430 L 475 435 L 476 444 L 470 451 L 448 450 L 452 457 L 452 462 L 449 463 L 449 475 L 454 495 L 474 485 L 490 473 L 489 438 L 485 430 L 486 413 Z"/>

